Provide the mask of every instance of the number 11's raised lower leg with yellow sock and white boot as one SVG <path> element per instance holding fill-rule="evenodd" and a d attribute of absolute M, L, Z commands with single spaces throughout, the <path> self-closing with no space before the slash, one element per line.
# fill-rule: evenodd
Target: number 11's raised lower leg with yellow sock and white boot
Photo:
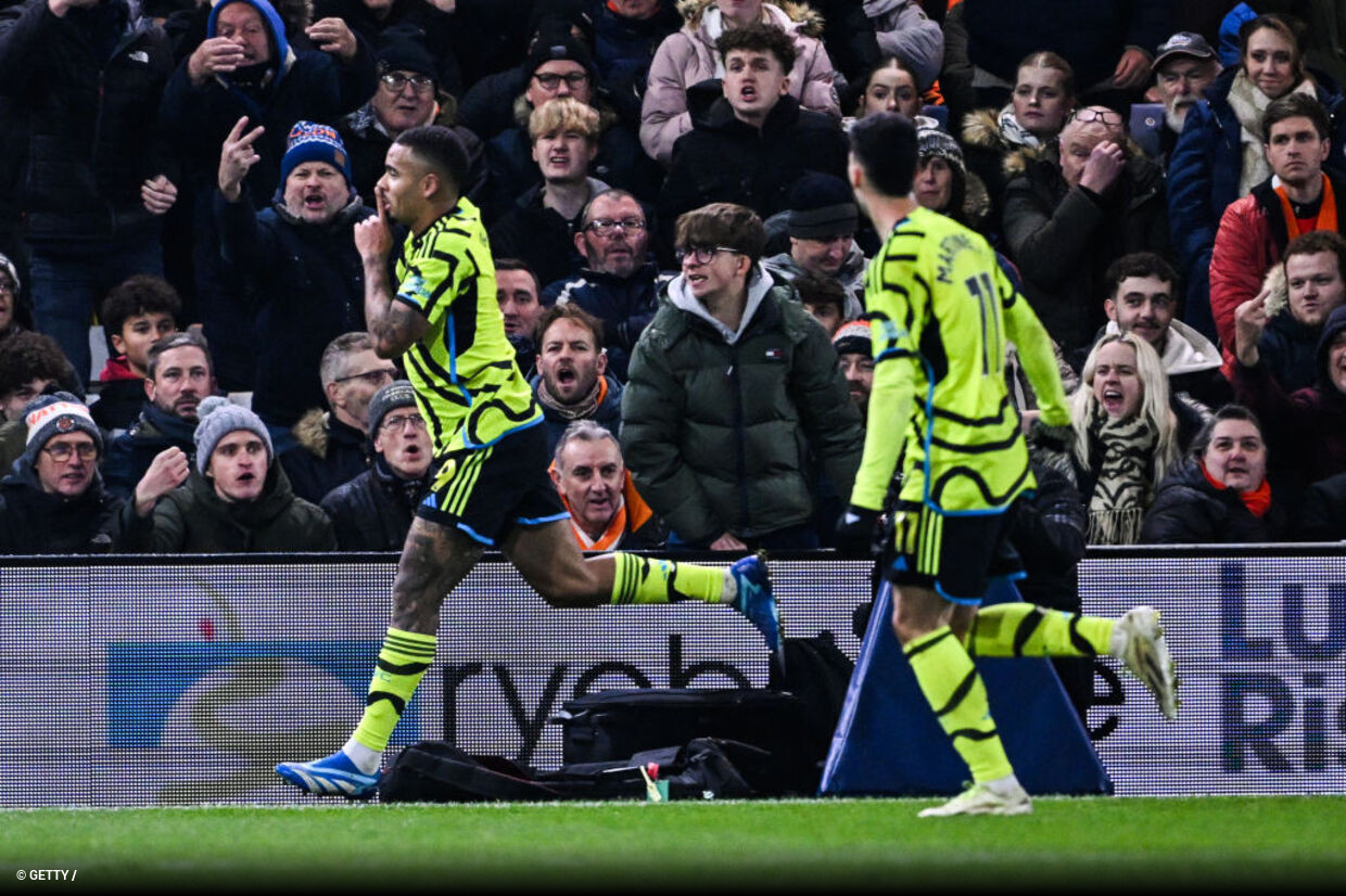
<path fill-rule="evenodd" d="M 1151 607 L 1105 619 L 1026 603 L 993 604 L 976 612 L 966 632 L 964 643 L 975 657 L 1116 657 L 1154 693 L 1166 718 L 1178 716 L 1172 655 L 1159 611 Z"/>

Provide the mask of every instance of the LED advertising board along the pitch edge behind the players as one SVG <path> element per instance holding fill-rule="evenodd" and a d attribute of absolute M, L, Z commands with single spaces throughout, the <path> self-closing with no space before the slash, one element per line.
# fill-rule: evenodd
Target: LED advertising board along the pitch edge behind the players
<path fill-rule="evenodd" d="M 304 799 L 271 768 L 330 752 L 358 718 L 393 560 L 0 560 L 0 806 Z M 870 570 L 774 560 L 786 634 L 828 630 L 855 657 Z M 1346 794 L 1343 572 L 1323 545 L 1092 552 L 1085 611 L 1160 608 L 1182 681 L 1170 724 L 1097 663 L 1088 726 L 1116 792 Z M 491 556 L 446 601 L 437 661 L 392 748 L 444 737 L 541 768 L 560 763 L 551 720 L 573 696 L 767 679 L 760 636 L 727 607 L 552 609 Z"/>

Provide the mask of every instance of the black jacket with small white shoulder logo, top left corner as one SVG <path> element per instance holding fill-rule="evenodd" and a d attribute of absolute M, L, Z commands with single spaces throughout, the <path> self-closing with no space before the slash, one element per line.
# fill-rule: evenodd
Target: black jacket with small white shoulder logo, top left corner
<path fill-rule="evenodd" d="M 178 176 L 156 124 L 172 50 L 162 28 L 132 16 L 125 0 L 63 19 L 46 0 L 0 11 L 0 213 L 20 211 L 32 241 L 108 239 L 157 225 L 140 184 Z"/>

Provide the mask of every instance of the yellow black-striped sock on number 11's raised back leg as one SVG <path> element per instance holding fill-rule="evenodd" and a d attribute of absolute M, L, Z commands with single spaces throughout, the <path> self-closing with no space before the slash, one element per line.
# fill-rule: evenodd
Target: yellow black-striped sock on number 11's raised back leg
<path fill-rule="evenodd" d="M 1106 655 L 1116 624 L 1034 604 L 995 604 L 972 618 L 964 647 L 973 657 Z"/>

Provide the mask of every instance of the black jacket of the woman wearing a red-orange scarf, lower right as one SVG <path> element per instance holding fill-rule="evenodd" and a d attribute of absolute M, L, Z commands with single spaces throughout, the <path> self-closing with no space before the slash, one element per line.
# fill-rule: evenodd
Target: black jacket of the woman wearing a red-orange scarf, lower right
<path fill-rule="evenodd" d="M 1147 545 L 1245 545 L 1280 541 L 1285 511 L 1272 495 L 1260 519 L 1230 488 L 1215 488 L 1191 457 L 1176 464 L 1159 483 L 1145 513 L 1140 541 Z"/>

